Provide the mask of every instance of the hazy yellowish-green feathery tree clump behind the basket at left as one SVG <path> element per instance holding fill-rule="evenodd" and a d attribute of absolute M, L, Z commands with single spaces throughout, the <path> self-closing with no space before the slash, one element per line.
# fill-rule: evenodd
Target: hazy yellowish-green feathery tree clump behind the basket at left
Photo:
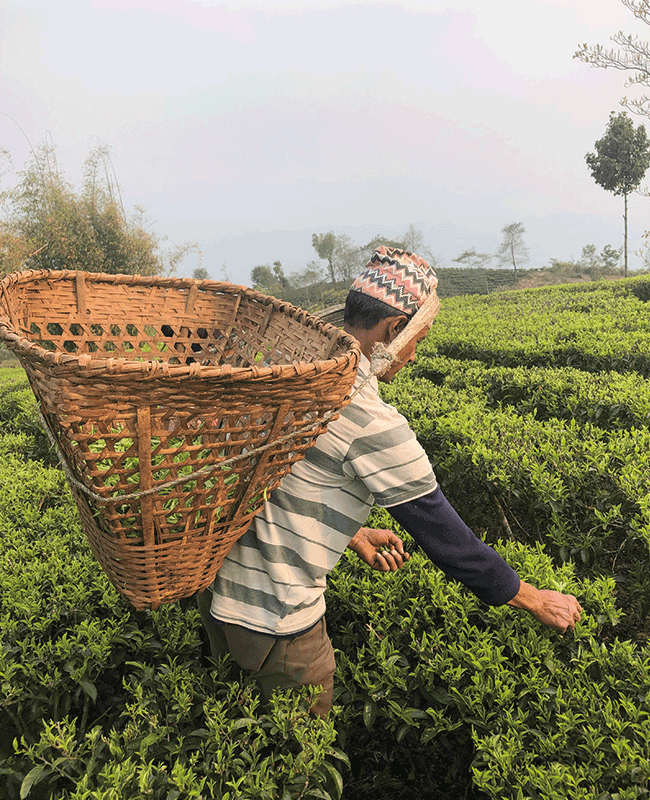
<path fill-rule="evenodd" d="M 61 174 L 51 145 L 34 152 L 19 176 L 0 193 L 1 274 L 34 268 L 158 275 L 198 249 L 185 244 L 163 252 L 142 209 L 127 216 L 104 146 L 86 159 L 79 194 Z"/>

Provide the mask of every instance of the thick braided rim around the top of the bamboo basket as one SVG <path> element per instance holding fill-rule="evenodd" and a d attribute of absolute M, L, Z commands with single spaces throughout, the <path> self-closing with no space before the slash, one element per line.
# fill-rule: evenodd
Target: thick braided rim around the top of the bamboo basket
<path fill-rule="evenodd" d="M 279 313 L 296 319 L 306 327 L 325 334 L 332 341 L 340 340 L 344 345 L 347 345 L 348 352 L 345 355 L 319 361 L 299 361 L 289 364 L 274 364 L 268 367 L 233 367 L 230 364 L 210 366 L 202 365 L 198 362 L 193 364 L 168 364 L 167 362 L 153 359 L 146 361 L 124 357 L 106 358 L 88 353 L 73 355 L 62 351 L 46 350 L 37 342 L 32 342 L 16 331 L 9 312 L 9 296 L 13 287 L 42 280 L 76 281 L 78 275 L 83 275 L 84 280 L 89 283 L 160 286 L 170 289 L 187 289 L 196 286 L 199 291 L 239 294 L 263 305 L 274 306 Z M 200 380 L 202 378 L 220 378 L 228 381 L 242 379 L 277 380 L 294 377 L 297 374 L 300 374 L 301 377 L 307 377 L 310 373 L 321 375 L 332 369 L 337 369 L 343 363 L 348 362 L 351 357 L 356 361 L 355 366 L 357 366 L 361 356 L 359 342 L 351 334 L 326 322 L 316 314 L 310 314 L 304 309 L 294 306 L 286 300 L 279 300 L 272 295 L 263 294 L 242 284 L 210 279 L 197 280 L 196 278 L 172 278 L 161 275 L 111 274 L 83 270 L 28 269 L 6 275 L 0 281 L 0 341 L 4 342 L 18 356 L 23 356 L 27 360 L 37 360 L 51 366 L 65 366 L 66 371 L 79 372 L 84 375 L 92 372 L 93 378 L 109 379 L 128 377 L 129 379 L 158 380 L 161 377 L 170 377 L 174 379 L 191 378 L 192 380 Z"/>

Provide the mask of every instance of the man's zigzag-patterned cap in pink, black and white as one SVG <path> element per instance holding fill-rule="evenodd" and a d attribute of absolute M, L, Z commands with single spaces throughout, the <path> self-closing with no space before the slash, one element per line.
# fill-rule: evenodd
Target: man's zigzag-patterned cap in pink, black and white
<path fill-rule="evenodd" d="M 436 273 L 423 258 L 408 250 L 382 245 L 350 290 L 413 315 L 437 285 Z"/>

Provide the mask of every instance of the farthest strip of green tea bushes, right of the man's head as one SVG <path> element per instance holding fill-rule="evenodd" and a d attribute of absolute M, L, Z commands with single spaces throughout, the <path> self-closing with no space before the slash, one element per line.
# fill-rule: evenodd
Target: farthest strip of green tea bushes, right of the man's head
<path fill-rule="evenodd" d="M 647 276 L 447 300 L 422 355 L 650 375 Z"/>

